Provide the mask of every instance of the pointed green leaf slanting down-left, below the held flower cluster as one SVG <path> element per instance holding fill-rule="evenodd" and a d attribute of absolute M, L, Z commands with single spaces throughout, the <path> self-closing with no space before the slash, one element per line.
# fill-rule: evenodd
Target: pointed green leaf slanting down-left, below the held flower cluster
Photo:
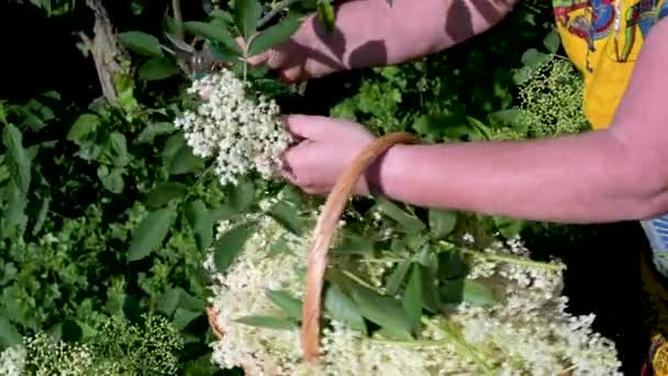
<path fill-rule="evenodd" d="M 127 262 L 142 259 L 158 248 L 176 220 L 176 210 L 169 207 L 148 213 L 132 234 Z"/>

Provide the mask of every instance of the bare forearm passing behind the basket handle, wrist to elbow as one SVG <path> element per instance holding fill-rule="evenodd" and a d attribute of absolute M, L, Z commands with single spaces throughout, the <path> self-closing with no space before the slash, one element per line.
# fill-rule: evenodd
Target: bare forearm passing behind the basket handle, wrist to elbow
<path fill-rule="evenodd" d="M 417 206 L 555 222 L 639 219 L 660 195 L 606 131 L 531 141 L 396 146 L 379 185 Z"/>

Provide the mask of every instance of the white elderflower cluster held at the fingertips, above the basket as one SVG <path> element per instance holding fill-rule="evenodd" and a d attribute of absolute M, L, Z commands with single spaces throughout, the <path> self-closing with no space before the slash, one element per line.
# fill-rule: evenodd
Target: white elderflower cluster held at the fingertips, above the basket
<path fill-rule="evenodd" d="M 291 137 L 272 100 L 252 99 L 246 82 L 227 69 L 196 80 L 188 92 L 208 98 L 177 118 L 175 126 L 185 131 L 194 155 L 215 157 L 221 184 L 236 184 L 252 172 L 266 179 L 276 174 Z"/>

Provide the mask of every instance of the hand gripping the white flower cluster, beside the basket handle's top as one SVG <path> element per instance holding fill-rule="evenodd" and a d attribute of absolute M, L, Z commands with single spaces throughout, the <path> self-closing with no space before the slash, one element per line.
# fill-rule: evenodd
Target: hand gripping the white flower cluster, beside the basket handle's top
<path fill-rule="evenodd" d="M 357 123 L 325 117 L 290 115 L 286 126 L 300 142 L 285 152 L 282 176 L 308 193 L 329 193 L 343 169 L 376 139 Z M 369 180 L 360 179 L 355 193 L 368 195 Z"/>

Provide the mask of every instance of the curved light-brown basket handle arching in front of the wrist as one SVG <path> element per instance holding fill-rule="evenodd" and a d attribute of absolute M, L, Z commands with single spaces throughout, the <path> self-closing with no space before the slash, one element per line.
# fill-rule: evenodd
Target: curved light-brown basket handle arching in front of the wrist
<path fill-rule="evenodd" d="M 325 207 L 318 219 L 313 232 L 313 242 L 309 250 L 307 269 L 307 290 L 302 309 L 301 343 L 303 357 L 307 362 L 318 360 L 320 354 L 320 317 L 322 305 L 322 288 L 327 266 L 327 251 L 336 230 L 343 209 L 357 180 L 378 156 L 396 144 L 415 144 L 420 141 L 414 136 L 397 132 L 387 134 L 368 145 L 353 159 L 350 165 L 341 174 L 336 185 L 327 196 Z"/>

